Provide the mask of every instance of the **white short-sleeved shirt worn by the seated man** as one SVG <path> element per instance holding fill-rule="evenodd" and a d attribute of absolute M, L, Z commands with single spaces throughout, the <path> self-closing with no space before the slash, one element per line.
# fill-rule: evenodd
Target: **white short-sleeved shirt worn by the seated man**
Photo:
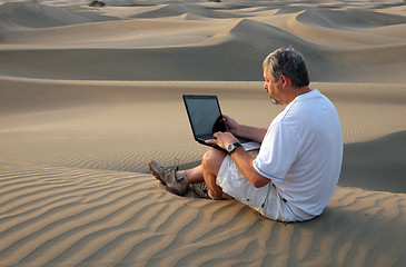
<path fill-rule="evenodd" d="M 298 96 L 270 123 L 254 168 L 271 179 L 290 211 L 323 212 L 338 182 L 343 132 L 334 105 L 318 90 Z"/>

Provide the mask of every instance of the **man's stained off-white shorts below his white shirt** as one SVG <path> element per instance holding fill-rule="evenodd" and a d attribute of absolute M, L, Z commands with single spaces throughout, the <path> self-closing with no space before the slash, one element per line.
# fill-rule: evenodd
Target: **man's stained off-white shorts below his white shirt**
<path fill-rule="evenodd" d="M 249 151 L 256 156 L 258 150 Z M 227 156 L 217 175 L 216 184 L 222 191 L 248 205 L 265 217 L 278 221 L 297 221 L 274 184 L 256 188 L 242 176 L 230 156 Z"/>

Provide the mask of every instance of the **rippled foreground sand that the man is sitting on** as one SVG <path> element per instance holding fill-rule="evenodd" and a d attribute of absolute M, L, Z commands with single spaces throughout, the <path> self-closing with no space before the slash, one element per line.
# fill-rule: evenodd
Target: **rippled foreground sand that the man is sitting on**
<path fill-rule="evenodd" d="M 1 265 L 400 266 L 406 256 L 404 194 L 338 188 L 320 218 L 284 225 L 236 201 L 174 196 L 149 175 L 13 166 L 0 178 Z"/>

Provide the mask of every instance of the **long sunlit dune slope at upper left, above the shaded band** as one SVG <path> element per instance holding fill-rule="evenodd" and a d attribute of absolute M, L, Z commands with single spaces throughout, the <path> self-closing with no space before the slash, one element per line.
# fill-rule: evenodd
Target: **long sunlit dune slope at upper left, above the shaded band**
<path fill-rule="evenodd" d="M 204 46 L 229 21 L 138 19 L 89 22 L 73 26 L 2 33 L 1 48 L 165 48 Z"/>

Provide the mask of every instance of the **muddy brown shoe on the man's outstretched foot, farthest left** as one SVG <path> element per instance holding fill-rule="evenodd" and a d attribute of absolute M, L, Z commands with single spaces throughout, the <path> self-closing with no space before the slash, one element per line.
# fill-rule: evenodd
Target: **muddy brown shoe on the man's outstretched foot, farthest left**
<path fill-rule="evenodd" d="M 166 169 L 154 160 L 149 161 L 148 169 L 151 171 L 155 178 L 164 182 L 175 194 L 184 196 L 188 189 L 189 181 L 187 180 L 186 176 L 176 177 L 176 170 Z"/>

